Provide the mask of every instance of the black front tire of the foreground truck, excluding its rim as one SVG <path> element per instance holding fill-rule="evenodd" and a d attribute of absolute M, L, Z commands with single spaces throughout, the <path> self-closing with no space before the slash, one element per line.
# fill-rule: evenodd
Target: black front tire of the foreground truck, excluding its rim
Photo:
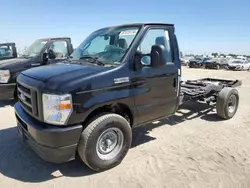
<path fill-rule="evenodd" d="M 119 129 L 123 134 L 123 143 L 119 153 L 112 159 L 105 160 L 99 157 L 97 151 L 99 136 L 108 129 Z M 119 132 L 119 131 L 118 131 Z M 121 163 L 126 156 L 132 142 L 132 130 L 129 122 L 117 114 L 102 114 L 93 119 L 83 130 L 79 144 L 78 154 L 82 161 L 94 171 L 111 169 Z"/>

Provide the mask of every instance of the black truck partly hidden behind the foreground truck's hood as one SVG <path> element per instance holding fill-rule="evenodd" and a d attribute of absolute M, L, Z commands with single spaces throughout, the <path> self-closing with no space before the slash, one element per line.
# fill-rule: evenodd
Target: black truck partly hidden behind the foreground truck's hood
<path fill-rule="evenodd" d="M 72 52 L 70 38 L 44 38 L 36 40 L 22 56 L 0 61 L 0 100 L 16 99 L 16 78 L 22 71 L 60 62 Z"/>

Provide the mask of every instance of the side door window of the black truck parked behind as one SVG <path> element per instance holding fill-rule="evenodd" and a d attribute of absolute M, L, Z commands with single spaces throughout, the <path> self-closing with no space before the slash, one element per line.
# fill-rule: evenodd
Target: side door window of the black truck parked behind
<path fill-rule="evenodd" d="M 68 56 L 68 46 L 66 41 L 52 42 L 49 48 L 49 54 L 52 59 L 63 59 Z"/>

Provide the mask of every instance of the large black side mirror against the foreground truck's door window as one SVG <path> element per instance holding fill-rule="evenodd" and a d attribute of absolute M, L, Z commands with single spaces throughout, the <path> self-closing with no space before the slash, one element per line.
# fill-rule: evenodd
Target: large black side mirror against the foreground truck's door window
<path fill-rule="evenodd" d="M 165 47 L 163 45 L 154 45 L 151 48 L 151 67 L 161 68 L 166 65 Z"/>

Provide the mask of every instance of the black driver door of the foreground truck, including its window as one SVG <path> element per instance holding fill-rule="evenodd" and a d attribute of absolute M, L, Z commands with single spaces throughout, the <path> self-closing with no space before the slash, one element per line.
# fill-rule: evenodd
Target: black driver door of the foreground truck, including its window
<path fill-rule="evenodd" d="M 149 54 L 153 45 L 165 46 L 166 66 L 150 67 L 150 56 L 142 58 L 142 69 L 132 72 L 134 102 L 139 123 L 159 119 L 175 112 L 178 101 L 178 68 L 174 61 L 171 30 L 151 28 L 138 46 L 138 51 Z"/>

